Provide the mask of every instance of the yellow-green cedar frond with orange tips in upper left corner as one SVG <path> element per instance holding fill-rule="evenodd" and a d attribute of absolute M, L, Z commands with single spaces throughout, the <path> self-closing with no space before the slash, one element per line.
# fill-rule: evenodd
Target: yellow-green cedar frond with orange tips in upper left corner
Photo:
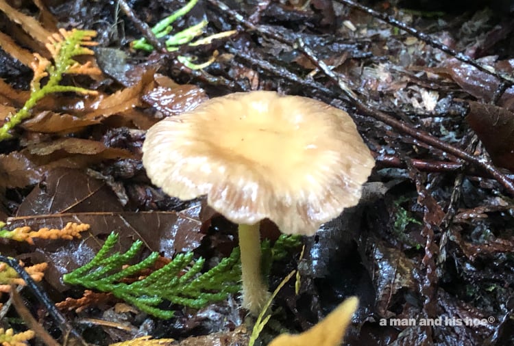
<path fill-rule="evenodd" d="M 98 75 L 101 71 L 92 66 L 90 62 L 79 64 L 73 59 L 77 55 L 93 55 L 93 51 L 88 46 L 93 46 L 96 42 L 91 39 L 96 36 L 93 30 L 66 31 L 60 29 L 59 34 L 50 36 L 49 43 L 46 44 L 52 58 L 53 64 L 45 57 L 34 53 L 35 60 L 31 65 L 34 70 L 34 78 L 31 83 L 30 98 L 25 102 L 23 108 L 10 118 L 3 127 L 0 128 L 0 141 L 12 137 L 9 133 L 17 124 L 29 118 L 32 108 L 41 98 L 55 92 L 76 92 L 78 94 L 97 94 L 93 90 L 87 90 L 71 85 L 60 85 L 64 74 Z M 41 81 L 48 77 L 44 86 Z"/>

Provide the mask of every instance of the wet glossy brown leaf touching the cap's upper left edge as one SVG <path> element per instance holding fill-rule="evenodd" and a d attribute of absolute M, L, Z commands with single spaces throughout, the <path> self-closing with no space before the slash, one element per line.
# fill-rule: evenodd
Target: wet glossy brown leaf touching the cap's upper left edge
<path fill-rule="evenodd" d="M 195 85 L 180 85 L 177 88 L 158 86 L 143 95 L 143 100 L 161 111 L 165 116 L 175 116 L 195 109 L 207 100 L 204 90 Z"/>

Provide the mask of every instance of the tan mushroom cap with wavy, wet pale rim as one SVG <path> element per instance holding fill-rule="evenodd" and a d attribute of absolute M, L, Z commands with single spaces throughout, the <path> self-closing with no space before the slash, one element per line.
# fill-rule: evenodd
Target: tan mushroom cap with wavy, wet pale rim
<path fill-rule="evenodd" d="M 147 133 L 143 165 L 170 196 L 207 195 L 237 224 L 313 235 L 358 203 L 374 159 L 345 111 L 276 92 L 212 98 Z"/>

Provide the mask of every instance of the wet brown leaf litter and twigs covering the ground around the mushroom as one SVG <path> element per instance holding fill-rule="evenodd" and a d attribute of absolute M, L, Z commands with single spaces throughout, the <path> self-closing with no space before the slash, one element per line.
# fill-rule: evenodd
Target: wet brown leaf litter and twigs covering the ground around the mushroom
<path fill-rule="evenodd" d="M 140 19 L 154 25 L 160 20 L 156 14 L 171 13 L 179 4 L 135 1 L 132 6 Z M 206 18 L 210 23 L 206 34 L 231 29 L 239 34 L 194 49 L 184 47 L 180 54 L 199 59 L 218 51 L 216 62 L 204 70 L 191 70 L 177 59 L 179 53 L 156 51 L 146 57 L 127 49 L 127 42 L 140 38 L 141 32 L 104 1 L 87 5 L 36 1 L 40 21 L 1 1 L 2 16 L 12 24 L 0 24 L 6 62 L 12 57 L 27 65 L 32 52 L 49 57 L 45 42 L 56 23 L 82 25 L 103 33 L 96 58 L 104 72 L 101 77 L 66 77 L 98 96 L 48 96 L 16 129 L 16 139 L 0 144 L 0 216 L 7 227 L 62 228 L 67 222 L 82 222 L 90 225 L 88 234 L 73 241 L 36 239 L 33 246 L 16 248 L 2 240 L 2 254 L 27 263 L 49 263 L 46 289 L 62 300 L 82 295 L 62 284 L 62 274 L 92 258 L 112 230 L 120 234 L 120 251 L 140 239 L 147 251 L 164 257 L 194 250 L 208 254 L 210 265 L 215 264 L 226 248 L 234 246 L 233 230 L 224 223 L 219 228 L 218 217 L 206 213 L 201 202 L 176 201 L 151 186 L 140 165 L 144 131 L 160 118 L 192 109 L 208 97 L 281 90 L 350 109 L 377 156 L 371 181 L 389 187 L 348 213 L 351 216 L 327 224 L 315 239 L 304 239 L 306 256 L 300 263 L 296 257 L 273 266 L 272 287 L 298 265 L 302 274 L 299 295 L 293 284 L 287 284 L 276 299 L 281 309 L 273 319 L 278 325 L 290 332 L 306 330 L 343 297 L 360 295 L 361 307 L 347 345 L 371 340 L 374 345 L 509 344 L 512 307 L 505 302 L 513 287 L 514 209 L 508 183 L 513 178 L 514 102 L 509 81 L 513 51 L 506 33 L 511 26 L 500 14 L 479 8 L 452 16 L 455 9 L 443 6 L 442 14 L 434 18 L 423 8 L 416 12 L 393 2 L 366 11 L 358 6 L 346 0 L 265 1 L 257 7 L 242 3 L 232 8 L 238 17 L 217 0 L 200 2 L 191 18 L 173 24 L 175 29 Z M 417 29 L 406 34 L 394 21 L 382 21 L 374 10 Z M 70 18 L 70 13 L 75 16 Z M 455 29 L 459 27 L 463 29 Z M 424 32 L 448 49 L 477 59 L 483 68 L 452 57 L 434 39 L 416 34 Z M 300 40 L 315 59 L 300 49 Z M 400 119 L 405 127 L 351 111 L 355 100 L 343 96 L 340 83 L 321 62 L 368 105 Z M 1 76 L 3 124 L 28 98 L 31 76 L 22 67 Z M 429 137 L 418 135 L 423 131 Z M 444 144 L 434 146 L 434 141 L 426 140 L 434 137 Z M 454 148 L 479 160 L 470 161 Z M 497 171 L 489 169 L 489 158 Z M 397 224 L 404 227 L 395 228 Z M 271 228 L 267 235 L 273 239 Z M 137 312 L 112 313 L 112 304 L 99 303 L 97 311 L 86 309 L 79 316 L 115 323 L 127 319 L 123 323 L 132 332 L 123 335 L 105 325 L 90 327 L 108 335 L 108 343 L 134 338 L 136 331 L 147 328 Z M 378 325 L 380 319 L 412 317 L 493 317 L 494 321 L 479 328 Z M 66 318 L 79 321 L 69 313 Z M 201 311 L 182 310 L 175 320 L 148 323 L 146 333 L 183 338 L 181 345 L 247 343 L 246 332 L 237 328 L 241 315 L 234 301 Z M 215 334 L 220 329 L 224 332 Z M 202 333 L 208 335 L 198 336 Z M 263 340 L 277 331 L 270 328 L 266 333 Z"/>

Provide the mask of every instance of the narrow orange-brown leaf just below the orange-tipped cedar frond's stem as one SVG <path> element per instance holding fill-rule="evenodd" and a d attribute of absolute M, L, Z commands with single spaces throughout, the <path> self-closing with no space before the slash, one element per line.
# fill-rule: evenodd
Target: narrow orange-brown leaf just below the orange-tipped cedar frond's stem
<path fill-rule="evenodd" d="M 58 114 L 53 111 L 42 111 L 33 118 L 23 122 L 22 127 L 29 131 L 43 133 L 70 133 L 84 129 L 99 120 L 83 119 L 69 114 Z"/>

